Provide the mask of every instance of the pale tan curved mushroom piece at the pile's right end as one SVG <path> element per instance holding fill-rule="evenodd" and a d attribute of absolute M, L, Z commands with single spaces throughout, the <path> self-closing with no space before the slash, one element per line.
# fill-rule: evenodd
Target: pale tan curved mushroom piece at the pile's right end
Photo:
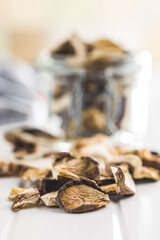
<path fill-rule="evenodd" d="M 110 164 L 127 163 L 132 171 L 134 179 L 159 180 L 159 172 L 150 167 L 142 165 L 142 159 L 134 154 L 117 155 L 110 159 Z"/>

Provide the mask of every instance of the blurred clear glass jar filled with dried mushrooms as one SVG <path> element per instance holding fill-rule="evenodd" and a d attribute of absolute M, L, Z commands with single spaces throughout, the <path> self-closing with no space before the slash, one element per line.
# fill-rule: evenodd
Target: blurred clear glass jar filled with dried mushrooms
<path fill-rule="evenodd" d="M 49 114 L 67 139 L 95 133 L 143 135 L 151 77 L 148 52 L 110 61 L 103 70 L 71 67 L 65 57 L 42 54 L 40 74 L 48 82 Z M 45 88 L 44 88 L 45 89 Z"/>

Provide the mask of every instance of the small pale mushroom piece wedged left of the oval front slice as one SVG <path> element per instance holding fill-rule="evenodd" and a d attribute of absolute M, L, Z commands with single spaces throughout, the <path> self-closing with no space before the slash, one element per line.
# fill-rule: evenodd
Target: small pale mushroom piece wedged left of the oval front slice
<path fill-rule="evenodd" d="M 41 196 L 41 200 L 47 207 L 57 207 L 58 206 L 57 199 L 56 199 L 57 194 L 58 194 L 58 191 L 47 193 Z"/>

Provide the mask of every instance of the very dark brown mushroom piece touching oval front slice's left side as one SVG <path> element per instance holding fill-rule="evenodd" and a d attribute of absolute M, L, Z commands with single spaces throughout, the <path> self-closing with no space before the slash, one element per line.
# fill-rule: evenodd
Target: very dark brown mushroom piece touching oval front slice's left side
<path fill-rule="evenodd" d="M 36 187 L 39 190 L 40 194 L 44 195 L 46 193 L 58 191 L 63 186 L 63 184 L 64 183 L 59 180 L 44 178 L 38 181 Z"/>

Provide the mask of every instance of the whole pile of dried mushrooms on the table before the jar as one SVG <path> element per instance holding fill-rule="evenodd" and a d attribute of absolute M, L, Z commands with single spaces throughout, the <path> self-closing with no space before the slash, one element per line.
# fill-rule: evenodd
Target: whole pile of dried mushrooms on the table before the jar
<path fill-rule="evenodd" d="M 57 138 L 21 127 L 5 134 L 12 160 L 0 161 L 0 176 L 18 176 L 9 200 L 20 210 L 41 204 L 69 213 L 92 211 L 136 193 L 135 180 L 159 180 L 160 156 L 148 150 L 127 151 L 102 134 L 77 139 L 70 152 L 52 150 Z"/>

